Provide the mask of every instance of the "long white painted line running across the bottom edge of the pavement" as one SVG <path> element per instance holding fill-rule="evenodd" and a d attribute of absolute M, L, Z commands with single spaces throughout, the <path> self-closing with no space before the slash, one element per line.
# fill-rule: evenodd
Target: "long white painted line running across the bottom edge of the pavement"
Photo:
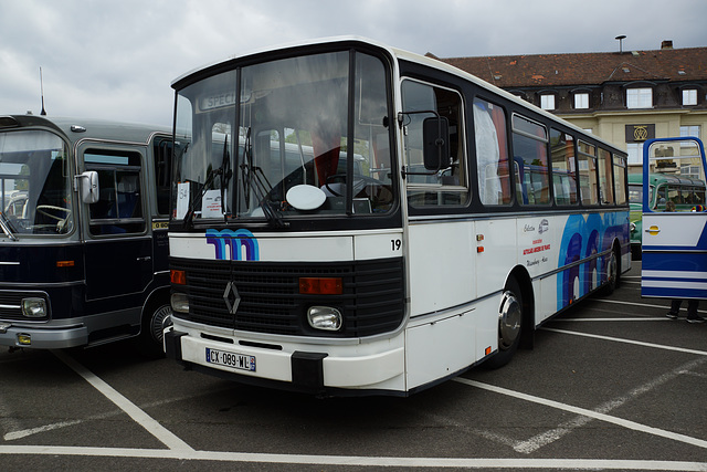
<path fill-rule="evenodd" d="M 249 452 L 176 451 L 163 449 L 84 448 L 56 445 L 1 445 L 0 454 L 87 455 L 135 459 L 179 459 L 234 463 L 297 465 L 398 466 L 432 469 L 571 469 L 707 471 L 707 462 L 641 461 L 605 459 L 472 459 L 472 458 L 394 458 L 361 455 L 261 454 Z"/>

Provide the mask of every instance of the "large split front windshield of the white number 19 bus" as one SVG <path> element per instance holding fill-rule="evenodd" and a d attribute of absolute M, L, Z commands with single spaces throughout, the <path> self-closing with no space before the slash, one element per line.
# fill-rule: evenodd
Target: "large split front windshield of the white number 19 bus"
<path fill-rule="evenodd" d="M 178 90 L 176 113 L 178 221 L 278 227 L 393 208 L 386 67 L 374 56 L 235 67 Z"/>

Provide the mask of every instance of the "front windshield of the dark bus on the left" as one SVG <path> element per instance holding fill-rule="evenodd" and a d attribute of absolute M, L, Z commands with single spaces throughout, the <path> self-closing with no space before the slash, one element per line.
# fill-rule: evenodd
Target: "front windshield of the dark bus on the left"
<path fill-rule="evenodd" d="M 73 229 L 68 150 L 42 130 L 0 134 L 0 227 L 11 239 Z"/>

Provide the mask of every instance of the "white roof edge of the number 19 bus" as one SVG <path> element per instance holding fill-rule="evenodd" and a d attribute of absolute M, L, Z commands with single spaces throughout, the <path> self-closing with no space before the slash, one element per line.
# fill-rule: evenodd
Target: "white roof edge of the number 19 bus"
<path fill-rule="evenodd" d="M 357 35 L 346 35 L 346 36 L 333 36 L 333 38 L 323 38 L 323 39 L 313 39 L 313 40 L 306 40 L 306 41 L 300 41 L 297 43 L 288 43 L 288 44 L 282 44 L 282 45 L 275 45 L 275 46 L 271 46 L 271 48 L 264 48 L 264 49 L 260 49 L 256 51 L 252 51 L 250 53 L 245 53 L 245 54 L 236 54 L 236 55 L 232 55 L 226 57 L 225 60 L 222 61 L 217 61 L 217 62 L 212 62 L 205 65 L 202 65 L 200 67 L 193 69 L 180 76 L 178 76 L 177 78 L 175 78 L 171 83 L 171 86 L 173 88 L 181 88 L 182 86 L 184 86 L 184 82 L 187 83 L 191 83 L 196 80 L 198 80 L 197 76 L 202 75 L 204 73 L 207 73 L 209 70 L 211 69 L 220 69 L 221 66 L 236 61 L 236 60 L 243 60 L 243 59 L 251 59 L 251 57 L 256 57 L 257 55 L 261 54 L 265 54 L 265 53 L 270 53 L 270 52 L 274 52 L 274 51 L 278 51 L 278 52 L 285 52 L 287 50 L 296 50 L 299 48 L 306 48 L 306 46 L 315 46 L 315 45 L 336 45 L 336 44 L 350 44 L 350 43 L 360 43 L 363 45 L 372 45 L 374 48 L 381 49 L 383 51 L 386 51 L 391 57 L 394 57 L 397 60 L 403 60 L 403 61 L 408 61 L 408 62 L 414 62 L 418 64 L 422 64 L 422 65 L 428 65 L 430 67 L 440 70 L 440 71 L 444 71 L 447 72 L 450 74 L 460 76 L 468 82 L 474 83 L 475 85 L 482 87 L 482 88 L 486 88 L 488 91 L 490 91 L 494 94 L 497 95 L 502 95 L 505 99 L 508 99 L 510 102 L 514 102 L 515 104 L 517 104 L 518 106 L 521 106 L 524 108 L 528 108 L 534 111 L 537 114 L 544 115 L 545 117 L 547 117 L 548 119 L 551 120 L 557 120 L 562 123 L 566 127 L 574 129 L 577 132 L 579 132 L 580 134 L 587 134 L 588 132 L 569 123 L 566 122 L 564 119 L 558 117 L 557 115 L 551 114 L 550 112 L 547 112 L 545 109 L 541 109 L 532 104 L 529 104 L 528 102 L 524 101 L 523 98 L 513 95 L 506 91 L 504 91 L 503 88 L 499 88 L 482 78 L 478 78 L 475 75 L 469 74 L 468 72 L 462 71 L 461 69 L 457 69 L 453 65 L 447 64 L 446 62 L 442 62 L 437 59 L 433 59 L 433 57 L 429 57 L 429 56 L 424 56 L 418 53 L 413 53 L 410 51 L 405 51 L 402 49 L 397 49 L 393 46 L 390 46 L 388 44 L 378 42 L 376 40 L 370 40 L 367 38 L 362 38 L 362 36 L 357 36 Z M 598 143 L 601 143 L 604 147 L 610 148 L 613 153 L 619 154 L 619 155 L 623 155 L 625 156 L 626 153 L 624 150 L 619 149 L 615 145 L 595 136 L 595 135 L 591 135 L 592 139 L 594 139 Z"/>

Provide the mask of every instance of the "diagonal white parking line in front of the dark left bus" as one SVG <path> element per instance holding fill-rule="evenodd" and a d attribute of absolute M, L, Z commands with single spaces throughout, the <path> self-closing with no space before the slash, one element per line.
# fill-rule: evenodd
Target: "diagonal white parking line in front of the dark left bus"
<path fill-rule="evenodd" d="M 117 390 L 106 384 L 94 373 L 92 373 L 61 350 L 52 350 L 52 354 L 54 354 L 54 356 L 59 357 L 64 364 L 71 367 L 76 374 L 82 376 L 88 384 L 96 388 L 96 390 L 103 394 L 108 400 L 117 405 L 117 407 L 125 411 L 130 418 L 133 418 L 135 422 L 145 428 L 150 434 L 160 440 L 169 449 L 177 451 L 193 451 L 193 449 L 189 444 L 187 444 L 167 428 L 161 426 L 145 411 L 136 407 L 135 403 L 120 395 Z"/>

